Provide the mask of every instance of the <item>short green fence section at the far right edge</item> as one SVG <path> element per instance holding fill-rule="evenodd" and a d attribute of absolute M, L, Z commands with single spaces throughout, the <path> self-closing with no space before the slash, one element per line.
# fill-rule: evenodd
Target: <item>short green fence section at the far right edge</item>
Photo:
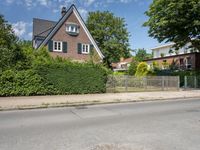
<path fill-rule="evenodd" d="M 200 76 L 185 76 L 183 87 L 185 89 L 198 89 L 198 88 L 200 88 Z"/>

